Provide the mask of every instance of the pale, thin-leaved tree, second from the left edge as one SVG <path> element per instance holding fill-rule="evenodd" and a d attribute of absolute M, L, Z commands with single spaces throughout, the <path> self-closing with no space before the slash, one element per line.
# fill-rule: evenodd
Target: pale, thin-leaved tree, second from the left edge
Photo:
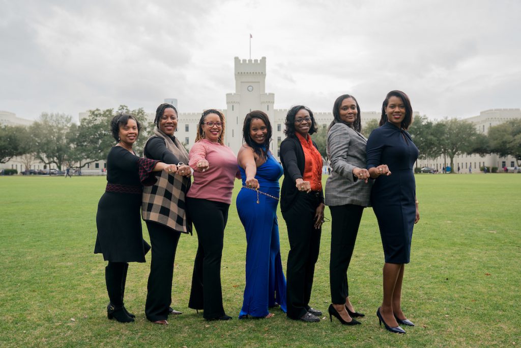
<path fill-rule="evenodd" d="M 71 117 L 65 114 L 42 113 L 29 131 L 34 141 L 34 154 L 44 164 L 56 164 L 61 170 L 68 161 L 72 147 L 68 138 Z"/>

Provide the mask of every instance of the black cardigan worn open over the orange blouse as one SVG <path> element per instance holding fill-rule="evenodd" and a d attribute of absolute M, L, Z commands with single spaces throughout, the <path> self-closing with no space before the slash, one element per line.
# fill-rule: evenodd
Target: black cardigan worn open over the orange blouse
<path fill-rule="evenodd" d="M 315 141 L 313 141 L 313 146 L 317 147 Z M 304 175 L 304 150 L 296 136 L 287 137 L 280 143 L 280 161 L 284 170 L 284 179 L 280 189 L 280 210 L 287 211 L 299 195 L 295 181 L 298 178 L 302 179 Z M 320 201 L 324 202 L 322 190 L 320 190 Z"/>

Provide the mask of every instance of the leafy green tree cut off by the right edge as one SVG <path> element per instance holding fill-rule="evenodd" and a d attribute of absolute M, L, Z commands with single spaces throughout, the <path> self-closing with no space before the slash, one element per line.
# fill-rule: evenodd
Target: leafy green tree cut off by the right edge
<path fill-rule="evenodd" d="M 521 119 L 512 119 L 489 128 L 490 152 L 501 157 L 513 156 L 521 165 Z"/>

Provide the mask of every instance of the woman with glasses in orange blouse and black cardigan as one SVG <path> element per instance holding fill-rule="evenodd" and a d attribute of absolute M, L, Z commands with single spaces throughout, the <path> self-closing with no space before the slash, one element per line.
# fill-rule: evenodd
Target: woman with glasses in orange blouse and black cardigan
<path fill-rule="evenodd" d="M 280 143 L 284 179 L 280 210 L 288 227 L 287 308 L 288 317 L 320 321 L 322 312 L 309 306 L 320 233 L 324 222 L 322 157 L 311 134 L 317 131 L 313 113 L 302 105 L 293 106 L 286 116 L 286 139 Z"/>

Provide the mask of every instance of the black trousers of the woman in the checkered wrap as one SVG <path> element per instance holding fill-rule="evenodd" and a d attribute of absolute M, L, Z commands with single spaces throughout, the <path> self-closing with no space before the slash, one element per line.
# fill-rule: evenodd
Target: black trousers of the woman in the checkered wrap
<path fill-rule="evenodd" d="M 146 285 L 145 315 L 150 321 L 166 320 L 172 303 L 173 261 L 181 232 L 152 221 L 146 221 L 146 227 L 152 244 L 152 260 Z"/>

